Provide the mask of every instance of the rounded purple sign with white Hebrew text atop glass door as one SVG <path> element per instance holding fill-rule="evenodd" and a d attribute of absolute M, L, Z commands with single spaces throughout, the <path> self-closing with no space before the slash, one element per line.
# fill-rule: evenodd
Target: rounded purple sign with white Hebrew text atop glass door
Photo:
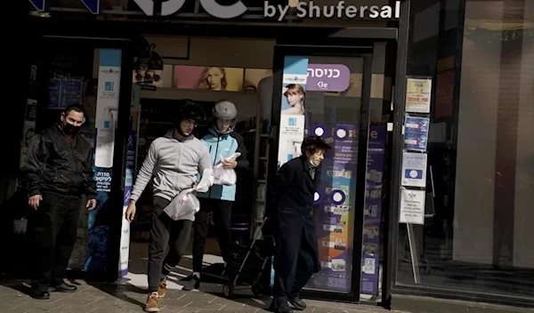
<path fill-rule="evenodd" d="M 308 91 L 344 92 L 350 83 L 351 71 L 343 64 L 308 64 Z"/>

